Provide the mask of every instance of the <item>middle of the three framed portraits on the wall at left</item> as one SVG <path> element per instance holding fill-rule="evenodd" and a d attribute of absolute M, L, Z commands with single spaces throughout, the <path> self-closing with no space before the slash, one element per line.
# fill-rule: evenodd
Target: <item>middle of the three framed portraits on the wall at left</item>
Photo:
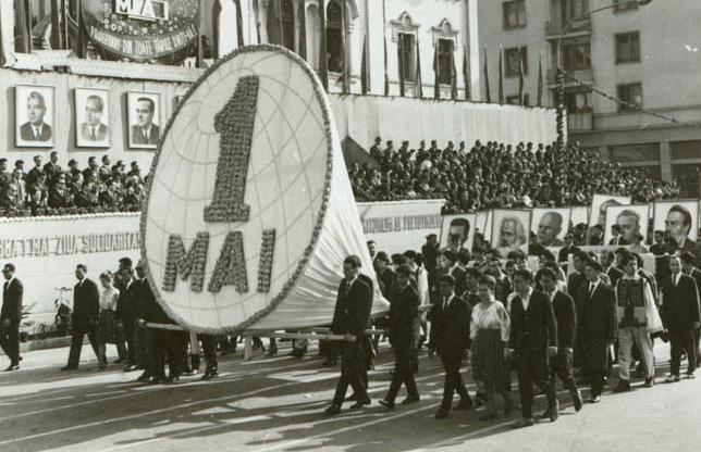
<path fill-rule="evenodd" d="M 75 88 L 75 146 L 109 148 L 111 131 L 110 91 Z"/>

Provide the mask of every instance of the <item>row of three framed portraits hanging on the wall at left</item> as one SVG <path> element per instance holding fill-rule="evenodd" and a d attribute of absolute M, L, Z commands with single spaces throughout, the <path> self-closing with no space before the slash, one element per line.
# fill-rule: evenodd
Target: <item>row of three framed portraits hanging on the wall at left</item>
<path fill-rule="evenodd" d="M 75 88 L 75 146 L 109 148 L 112 146 L 111 99 L 109 89 Z M 128 148 L 156 149 L 160 140 L 160 95 L 126 93 Z M 56 109 L 56 89 L 51 86 L 15 86 L 15 146 L 52 148 L 54 126 L 60 117 Z"/>

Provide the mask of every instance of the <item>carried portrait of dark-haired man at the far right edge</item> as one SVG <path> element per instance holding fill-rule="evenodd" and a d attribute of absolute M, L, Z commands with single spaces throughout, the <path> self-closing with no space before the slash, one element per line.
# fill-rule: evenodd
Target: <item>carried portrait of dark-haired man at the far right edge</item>
<path fill-rule="evenodd" d="M 654 204 L 654 230 L 664 230 L 677 250 L 696 253 L 699 228 L 699 202 L 692 200 L 657 201 Z"/>

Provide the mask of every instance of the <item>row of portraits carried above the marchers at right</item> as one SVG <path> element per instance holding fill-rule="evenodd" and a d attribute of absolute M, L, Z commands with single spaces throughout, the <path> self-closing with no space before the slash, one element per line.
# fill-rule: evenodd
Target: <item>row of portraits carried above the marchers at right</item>
<path fill-rule="evenodd" d="M 647 240 L 649 219 L 652 218 L 653 230 L 669 233 L 682 249 L 696 249 L 699 227 L 698 200 L 660 201 L 651 205 L 630 205 L 618 203 L 619 201 L 625 200 L 608 203 L 604 205 L 603 211 L 599 208 L 606 203 L 605 199 L 597 203 L 598 209 L 593 209 L 592 204 L 588 224 L 603 225 L 604 243 L 612 241 L 614 225 L 617 225 L 620 238 L 627 243 L 631 243 L 632 237 L 638 234 L 642 235 L 643 241 Z M 630 202 L 629 198 L 627 202 Z M 579 221 L 581 212 L 576 212 L 575 209 L 579 208 L 495 209 L 489 212 L 446 215 L 443 217 L 440 244 L 455 250 L 471 250 L 477 229 L 484 234 L 503 255 L 514 250 L 528 253 L 529 233 L 532 233 L 543 247 L 559 248 L 565 244 L 564 238 L 570 222 L 587 223 Z M 573 215 L 578 215 L 578 218 L 574 218 Z"/>

